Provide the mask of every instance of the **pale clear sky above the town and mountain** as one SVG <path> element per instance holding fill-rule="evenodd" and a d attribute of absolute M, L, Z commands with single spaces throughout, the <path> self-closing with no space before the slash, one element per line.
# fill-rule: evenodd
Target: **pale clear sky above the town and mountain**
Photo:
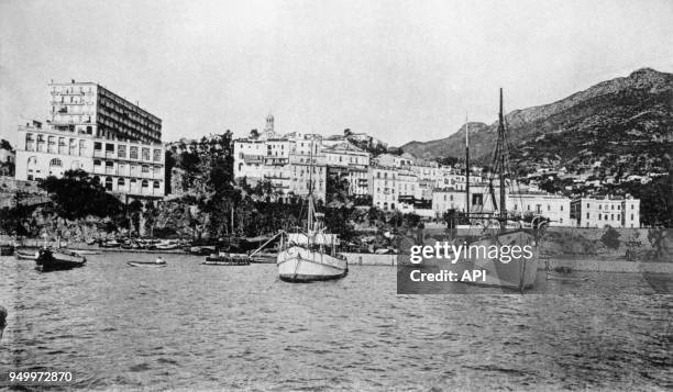
<path fill-rule="evenodd" d="M 231 130 L 389 143 L 673 71 L 673 1 L 0 0 L 0 137 L 47 115 L 51 81 L 95 81 L 165 142 Z"/>

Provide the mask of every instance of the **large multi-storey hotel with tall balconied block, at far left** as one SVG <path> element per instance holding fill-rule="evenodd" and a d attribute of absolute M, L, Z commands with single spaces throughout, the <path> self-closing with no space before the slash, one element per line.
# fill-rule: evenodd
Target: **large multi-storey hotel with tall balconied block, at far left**
<path fill-rule="evenodd" d="M 81 169 L 107 190 L 164 195 L 162 120 L 91 82 L 49 83 L 49 119 L 19 126 L 18 180 Z"/>

